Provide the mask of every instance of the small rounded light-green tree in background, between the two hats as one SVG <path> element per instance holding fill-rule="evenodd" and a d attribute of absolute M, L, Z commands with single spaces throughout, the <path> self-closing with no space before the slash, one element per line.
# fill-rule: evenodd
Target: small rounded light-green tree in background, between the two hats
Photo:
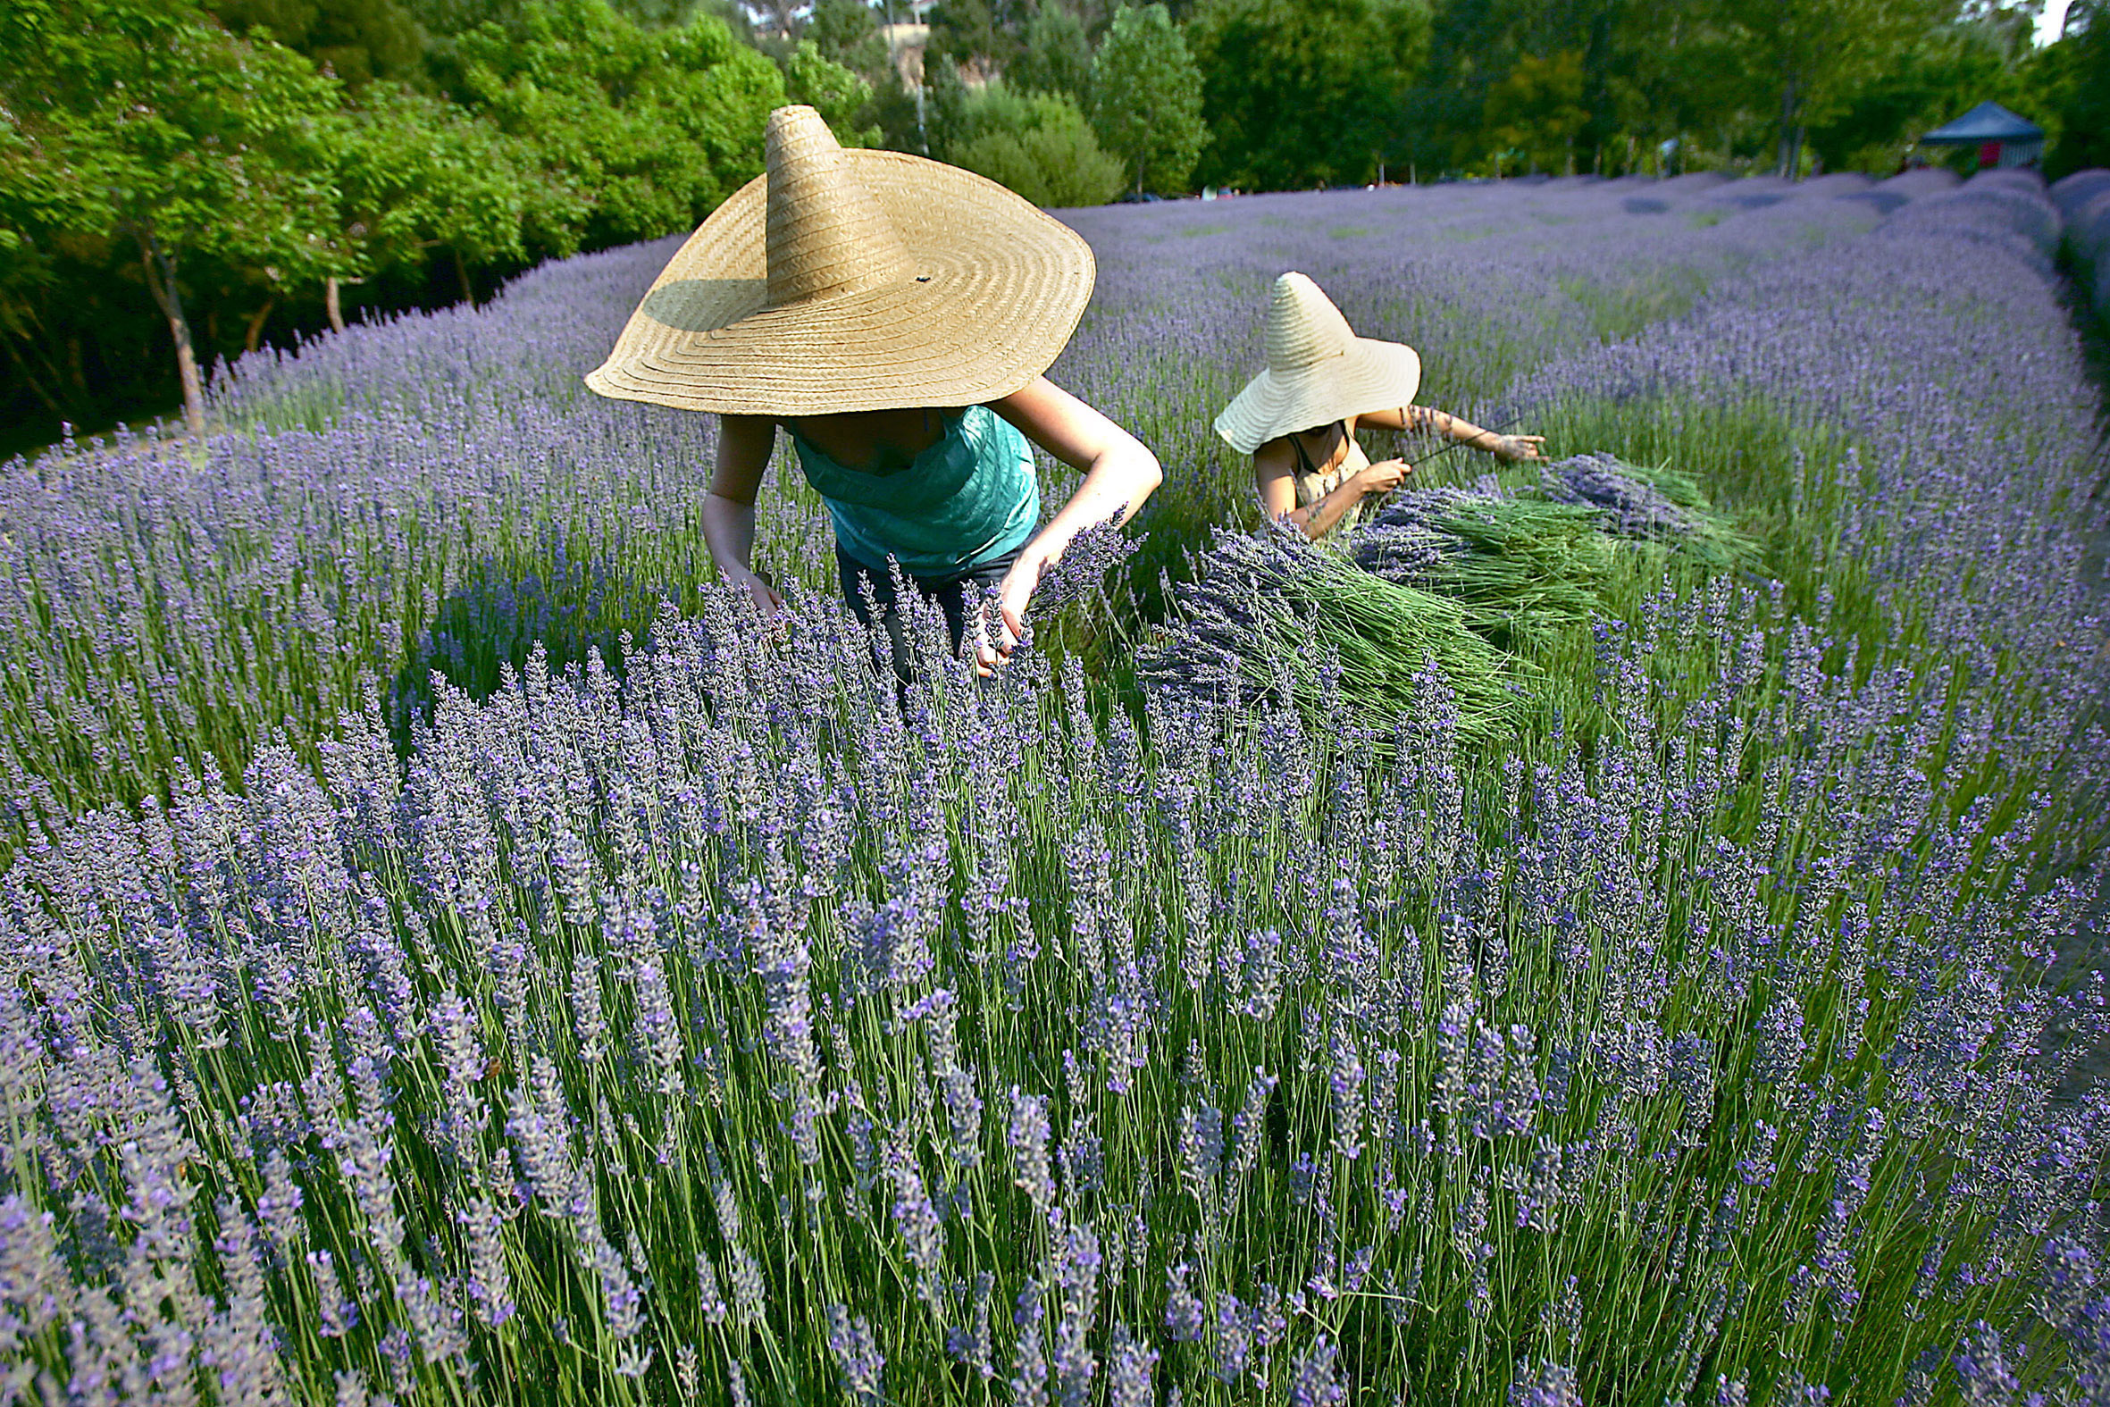
<path fill-rule="evenodd" d="M 1201 68 L 1165 6 L 1123 6 L 1091 61 L 1091 124 L 1135 190 L 1186 190 L 1209 139 L 1201 95 Z"/>

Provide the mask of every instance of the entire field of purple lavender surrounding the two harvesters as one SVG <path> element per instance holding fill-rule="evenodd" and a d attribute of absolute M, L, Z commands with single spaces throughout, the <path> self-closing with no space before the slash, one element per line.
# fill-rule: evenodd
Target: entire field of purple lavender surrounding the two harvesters
<path fill-rule="evenodd" d="M 1066 219 L 1051 375 L 1167 483 L 992 688 L 876 679 L 783 464 L 791 618 L 715 589 L 707 418 L 578 382 L 669 243 L 6 466 L 0 1401 L 2110 1399 L 2034 177 Z M 1129 671 L 1285 268 L 1749 555 L 1620 557 L 1494 734 Z"/>

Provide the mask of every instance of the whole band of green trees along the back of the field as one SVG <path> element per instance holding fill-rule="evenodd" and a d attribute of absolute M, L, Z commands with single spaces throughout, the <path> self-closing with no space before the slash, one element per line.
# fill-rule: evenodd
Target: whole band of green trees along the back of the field
<path fill-rule="evenodd" d="M 1108 162 L 1160 192 L 1380 162 L 1888 171 L 1988 97 L 2047 129 L 2051 175 L 2110 165 L 2110 0 L 2045 49 L 2038 8 L 943 0 L 916 89 L 869 0 L 6 0 L 0 405 L 8 428 L 108 424 L 335 321 L 346 281 L 369 310 L 430 306 L 688 228 L 760 169 L 785 99 L 1042 203 L 1101 198 Z"/>

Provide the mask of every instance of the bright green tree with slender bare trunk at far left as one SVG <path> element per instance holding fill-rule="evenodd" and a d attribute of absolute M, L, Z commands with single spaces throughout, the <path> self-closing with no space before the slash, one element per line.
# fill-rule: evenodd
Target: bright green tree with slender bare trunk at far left
<path fill-rule="evenodd" d="M 0 11 L 0 49 L 8 243 L 131 245 L 175 344 L 184 420 L 203 435 L 186 262 L 243 270 L 266 310 L 350 268 L 329 184 L 340 84 L 169 0 L 17 0 Z"/>

